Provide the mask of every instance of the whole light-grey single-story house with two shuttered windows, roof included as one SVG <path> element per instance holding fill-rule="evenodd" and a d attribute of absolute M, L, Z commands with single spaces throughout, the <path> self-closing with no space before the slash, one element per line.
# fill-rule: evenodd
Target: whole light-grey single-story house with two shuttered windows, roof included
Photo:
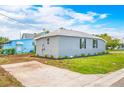
<path fill-rule="evenodd" d="M 105 40 L 74 30 L 59 29 L 35 38 L 36 54 L 48 57 L 94 55 L 106 50 Z"/>

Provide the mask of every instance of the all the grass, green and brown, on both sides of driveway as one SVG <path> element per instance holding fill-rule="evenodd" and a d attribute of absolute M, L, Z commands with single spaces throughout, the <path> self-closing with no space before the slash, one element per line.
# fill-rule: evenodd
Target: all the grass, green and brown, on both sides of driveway
<path fill-rule="evenodd" d="M 54 60 L 32 57 L 29 54 L 0 57 L 0 65 L 36 60 L 44 64 L 68 69 L 82 74 L 105 74 L 124 68 L 124 53 Z M 0 86 L 22 86 L 13 76 L 0 67 Z"/>

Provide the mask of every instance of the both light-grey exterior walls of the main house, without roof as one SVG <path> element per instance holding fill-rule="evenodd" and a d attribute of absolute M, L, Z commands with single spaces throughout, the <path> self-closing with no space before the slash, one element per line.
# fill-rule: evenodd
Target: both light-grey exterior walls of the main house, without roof
<path fill-rule="evenodd" d="M 42 51 L 42 44 L 45 50 Z M 80 54 L 94 54 L 105 51 L 105 41 L 98 39 L 98 48 L 93 48 L 93 39 L 86 39 L 86 49 L 80 49 L 80 38 L 67 36 L 49 37 L 49 44 L 47 38 L 36 40 L 36 54 L 39 56 L 51 55 L 54 58 L 75 56 Z"/>

